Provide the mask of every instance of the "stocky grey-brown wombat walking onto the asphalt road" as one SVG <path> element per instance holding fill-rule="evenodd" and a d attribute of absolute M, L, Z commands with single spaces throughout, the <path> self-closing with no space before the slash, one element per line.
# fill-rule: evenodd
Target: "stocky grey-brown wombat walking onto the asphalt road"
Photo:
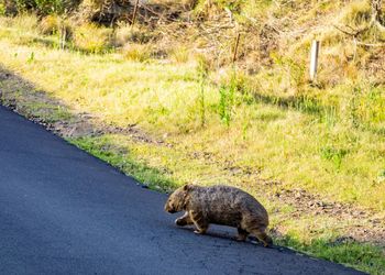
<path fill-rule="evenodd" d="M 266 209 L 250 194 L 235 187 L 185 185 L 169 196 L 165 210 L 169 213 L 186 211 L 175 223 L 179 227 L 194 224 L 194 232 L 198 234 L 205 234 L 209 224 L 216 223 L 238 228 L 239 241 L 253 234 L 264 246 L 273 244 L 265 233 L 268 226 Z"/>

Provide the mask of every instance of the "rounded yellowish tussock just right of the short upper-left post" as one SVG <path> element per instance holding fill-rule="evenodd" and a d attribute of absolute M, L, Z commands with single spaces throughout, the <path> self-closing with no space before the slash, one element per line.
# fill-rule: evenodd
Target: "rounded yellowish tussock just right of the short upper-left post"
<path fill-rule="evenodd" d="M 74 31 L 75 47 L 89 53 L 105 53 L 111 48 L 112 30 L 85 23 Z"/>

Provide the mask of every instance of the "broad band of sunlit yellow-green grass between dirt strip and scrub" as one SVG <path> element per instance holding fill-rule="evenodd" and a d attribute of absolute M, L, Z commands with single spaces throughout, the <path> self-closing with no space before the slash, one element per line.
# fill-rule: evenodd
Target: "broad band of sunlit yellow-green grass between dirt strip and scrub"
<path fill-rule="evenodd" d="M 378 177 L 385 167 L 384 120 L 375 111 L 384 102 L 380 88 L 365 92 L 365 100 L 363 90 L 358 91 L 336 112 L 307 97 L 284 106 L 265 101 L 233 84 L 206 85 L 202 105 L 195 63 L 143 64 L 118 54 L 20 45 L 21 37 L 37 35 L 23 28 L 2 28 L 2 65 L 70 109 L 119 127 L 138 123 L 150 135 L 167 135 L 169 142 L 183 144 L 186 152 L 206 150 L 234 165 L 257 167 L 262 178 L 282 179 L 283 187 L 385 210 L 385 184 Z M 349 89 L 336 100 L 342 92 Z"/>

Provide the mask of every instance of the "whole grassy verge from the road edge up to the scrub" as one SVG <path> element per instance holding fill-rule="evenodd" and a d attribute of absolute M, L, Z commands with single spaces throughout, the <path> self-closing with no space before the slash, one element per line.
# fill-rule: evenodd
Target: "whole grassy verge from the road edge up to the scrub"
<path fill-rule="evenodd" d="M 196 61 L 140 63 L 117 53 L 58 51 L 45 43 L 56 37 L 40 35 L 34 20 L 0 21 L 0 63 L 12 75 L 0 76 L 3 102 L 154 189 L 241 187 L 266 206 L 278 243 L 373 274 L 385 270 L 383 246 L 371 237 L 350 239 L 360 228 L 383 233 L 385 217 L 385 138 L 355 124 L 361 103 L 370 103 L 360 92 L 343 109 L 353 110 L 351 119 L 341 119 L 322 100 L 315 107 L 312 100 L 282 103 L 287 98 L 270 95 L 268 77 L 262 82 L 266 95 L 255 96 L 233 72 L 221 87 L 205 80 Z M 383 100 L 381 89 L 365 92 Z M 381 129 L 375 118 L 370 125 Z M 288 204 L 276 196 L 293 189 L 369 216 L 341 219 L 300 206 L 302 198 Z"/>

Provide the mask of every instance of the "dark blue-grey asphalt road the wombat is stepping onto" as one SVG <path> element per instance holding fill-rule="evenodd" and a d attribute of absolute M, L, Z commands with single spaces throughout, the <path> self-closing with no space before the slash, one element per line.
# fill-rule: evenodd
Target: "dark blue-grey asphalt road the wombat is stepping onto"
<path fill-rule="evenodd" d="M 359 274 L 174 224 L 166 195 L 0 107 L 0 274 Z"/>

